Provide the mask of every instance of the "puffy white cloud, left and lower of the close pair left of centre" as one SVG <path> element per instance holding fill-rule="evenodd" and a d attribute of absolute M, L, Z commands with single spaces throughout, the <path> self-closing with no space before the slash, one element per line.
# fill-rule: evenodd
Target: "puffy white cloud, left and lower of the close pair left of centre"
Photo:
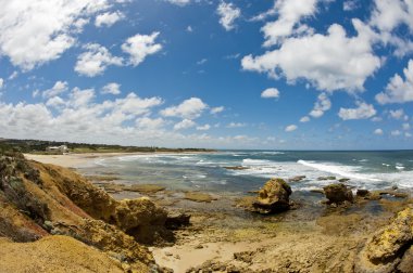
<path fill-rule="evenodd" d="M 77 57 L 75 72 L 83 76 L 95 77 L 103 74 L 110 65 L 123 65 L 122 57 L 112 56 L 109 50 L 98 43 L 88 43 L 87 51 Z"/>

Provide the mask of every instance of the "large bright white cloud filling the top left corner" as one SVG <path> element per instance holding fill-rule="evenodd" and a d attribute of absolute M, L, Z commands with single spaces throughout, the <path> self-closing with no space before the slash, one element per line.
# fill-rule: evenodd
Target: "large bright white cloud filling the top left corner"
<path fill-rule="evenodd" d="M 76 22 L 108 8 L 107 0 L 2 1 L 0 55 L 24 70 L 59 58 L 82 31 Z"/>

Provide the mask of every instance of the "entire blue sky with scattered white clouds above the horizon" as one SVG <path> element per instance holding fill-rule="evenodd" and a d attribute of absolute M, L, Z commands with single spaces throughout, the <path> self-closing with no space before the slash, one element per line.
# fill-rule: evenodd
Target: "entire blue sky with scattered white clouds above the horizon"
<path fill-rule="evenodd" d="M 0 138 L 413 148 L 413 0 L 0 5 Z"/>

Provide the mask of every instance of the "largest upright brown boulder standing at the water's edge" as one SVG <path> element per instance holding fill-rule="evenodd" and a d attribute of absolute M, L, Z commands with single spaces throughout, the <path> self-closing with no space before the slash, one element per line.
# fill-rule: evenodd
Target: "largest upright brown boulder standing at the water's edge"
<path fill-rule="evenodd" d="M 267 214 L 289 209 L 291 187 L 283 179 L 271 179 L 260 190 L 258 198 L 252 203 L 256 212 Z"/>

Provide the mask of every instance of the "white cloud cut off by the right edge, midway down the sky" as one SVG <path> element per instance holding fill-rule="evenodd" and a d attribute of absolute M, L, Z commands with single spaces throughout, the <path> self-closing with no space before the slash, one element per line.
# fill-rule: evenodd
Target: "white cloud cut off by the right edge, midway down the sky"
<path fill-rule="evenodd" d="M 390 78 L 384 92 L 376 95 L 376 101 L 380 104 L 413 102 L 413 60 L 403 69 L 404 80 L 396 74 Z"/>

